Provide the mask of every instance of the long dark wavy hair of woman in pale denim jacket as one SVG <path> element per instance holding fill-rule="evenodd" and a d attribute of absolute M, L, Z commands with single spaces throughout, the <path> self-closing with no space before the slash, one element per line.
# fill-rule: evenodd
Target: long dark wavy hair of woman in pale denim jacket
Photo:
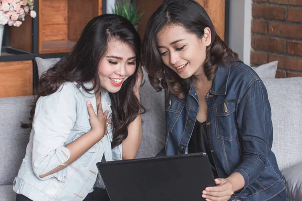
<path fill-rule="evenodd" d="M 64 82 L 78 82 L 87 92 L 93 90 L 100 92 L 98 66 L 107 52 L 107 43 L 110 39 L 118 39 L 129 44 L 136 55 L 134 74 L 125 80 L 117 93 L 109 93 L 112 102 L 113 141 L 111 145 L 113 148 L 121 144 L 128 136 L 128 125 L 144 112 L 144 108 L 133 92 L 140 63 L 140 38 L 126 18 L 105 14 L 92 19 L 70 53 L 41 76 L 35 94 L 36 99 L 50 95 L 56 92 Z M 85 88 L 84 82 L 91 80 L 93 87 Z M 31 111 L 31 120 L 34 112 L 35 106 Z"/>

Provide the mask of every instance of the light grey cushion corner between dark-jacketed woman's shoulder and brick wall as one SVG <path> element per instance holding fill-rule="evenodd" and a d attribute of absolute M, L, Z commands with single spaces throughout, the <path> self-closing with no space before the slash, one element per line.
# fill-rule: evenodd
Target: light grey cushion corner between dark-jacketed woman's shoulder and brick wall
<path fill-rule="evenodd" d="M 252 67 L 261 79 L 275 78 L 278 61 L 272 61 L 258 67 Z"/>

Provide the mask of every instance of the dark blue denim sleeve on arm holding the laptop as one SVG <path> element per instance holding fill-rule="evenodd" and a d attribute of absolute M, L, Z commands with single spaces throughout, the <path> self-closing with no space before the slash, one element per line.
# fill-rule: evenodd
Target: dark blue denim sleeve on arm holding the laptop
<path fill-rule="evenodd" d="M 269 134 L 272 129 L 267 91 L 261 80 L 255 80 L 241 99 L 237 110 L 242 161 L 234 172 L 245 180 L 245 189 L 266 166 Z"/>

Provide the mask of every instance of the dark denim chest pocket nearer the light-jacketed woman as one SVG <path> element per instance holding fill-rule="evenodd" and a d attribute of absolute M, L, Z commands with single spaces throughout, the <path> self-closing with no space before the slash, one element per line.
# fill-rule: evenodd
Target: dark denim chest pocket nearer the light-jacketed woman
<path fill-rule="evenodd" d="M 175 123 L 177 122 L 181 111 L 184 108 L 184 104 L 179 102 L 178 100 L 175 100 L 173 98 L 168 97 L 167 104 L 165 107 L 166 110 L 166 132 L 170 132 Z"/>

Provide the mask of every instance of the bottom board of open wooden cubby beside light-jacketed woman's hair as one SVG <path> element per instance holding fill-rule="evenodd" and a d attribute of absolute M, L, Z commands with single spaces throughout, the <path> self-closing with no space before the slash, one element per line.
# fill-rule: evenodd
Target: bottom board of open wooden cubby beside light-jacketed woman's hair
<path fill-rule="evenodd" d="M 43 41 L 41 54 L 69 52 L 75 42 L 70 40 Z"/>

